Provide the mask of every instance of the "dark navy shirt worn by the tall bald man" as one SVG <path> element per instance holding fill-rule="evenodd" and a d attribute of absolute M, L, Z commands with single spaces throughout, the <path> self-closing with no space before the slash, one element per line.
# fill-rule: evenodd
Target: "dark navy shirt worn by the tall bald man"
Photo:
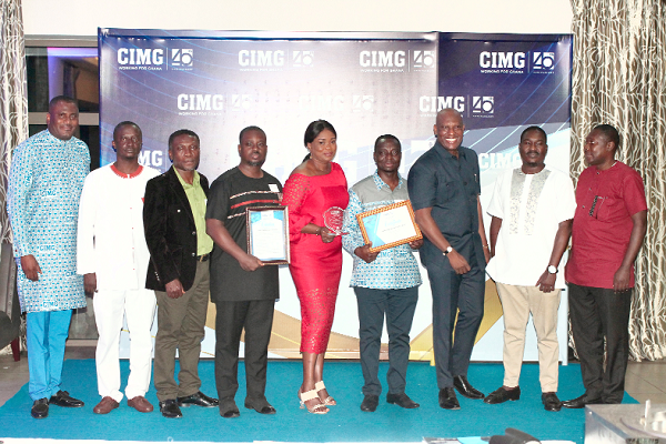
<path fill-rule="evenodd" d="M 484 269 L 483 246 L 478 235 L 478 176 L 476 152 L 460 147 L 458 158 L 455 158 L 436 142 L 410 169 L 407 186 L 414 211 L 432 208 L 431 215 L 442 235 L 467 261 L 474 252 L 476 262 Z M 427 258 L 441 254 L 425 238 L 421 249 L 424 264 Z"/>

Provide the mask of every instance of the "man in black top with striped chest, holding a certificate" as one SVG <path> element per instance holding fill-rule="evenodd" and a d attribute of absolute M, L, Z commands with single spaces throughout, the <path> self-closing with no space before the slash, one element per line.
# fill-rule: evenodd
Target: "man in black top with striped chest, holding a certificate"
<path fill-rule="evenodd" d="M 220 415 L 240 415 L 234 396 L 241 333 L 245 329 L 245 407 L 272 414 L 264 395 L 269 341 L 275 300 L 280 296 L 278 266 L 248 254 L 245 210 L 280 204 L 282 184 L 261 169 L 266 160 L 266 134 L 258 127 L 241 131 L 238 167 L 211 185 L 206 232 L 215 242 L 211 260 L 211 300 L 215 320 L 215 383 Z"/>

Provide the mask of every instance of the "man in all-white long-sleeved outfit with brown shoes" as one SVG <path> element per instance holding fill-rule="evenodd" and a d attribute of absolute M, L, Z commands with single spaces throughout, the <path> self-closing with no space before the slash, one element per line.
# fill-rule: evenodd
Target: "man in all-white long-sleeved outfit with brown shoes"
<path fill-rule="evenodd" d="M 155 294 L 145 290 L 150 253 L 143 234 L 145 183 L 159 171 L 139 164 L 141 129 L 121 122 L 113 130 L 114 163 L 85 178 L 79 209 L 77 272 L 93 296 L 99 340 L 95 352 L 98 391 L 93 412 L 107 414 L 122 401 L 119 341 L 127 316 L 130 331 L 128 405 L 152 412 L 144 397 L 150 385 Z"/>

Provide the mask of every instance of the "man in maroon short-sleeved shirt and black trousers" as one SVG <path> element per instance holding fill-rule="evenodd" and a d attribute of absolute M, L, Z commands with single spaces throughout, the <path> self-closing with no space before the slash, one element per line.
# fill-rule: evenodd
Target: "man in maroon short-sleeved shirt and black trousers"
<path fill-rule="evenodd" d="M 645 238 L 647 203 L 640 175 L 615 160 L 618 147 L 617 130 L 608 124 L 596 127 L 585 139 L 589 167 L 576 186 L 565 272 L 585 393 L 563 402 L 567 408 L 618 404 L 624 395 L 634 261 Z"/>

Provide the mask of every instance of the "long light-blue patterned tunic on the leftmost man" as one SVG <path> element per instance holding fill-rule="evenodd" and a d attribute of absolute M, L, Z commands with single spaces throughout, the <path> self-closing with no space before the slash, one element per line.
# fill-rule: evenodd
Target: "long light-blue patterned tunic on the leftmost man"
<path fill-rule="evenodd" d="M 63 141 L 44 130 L 14 150 L 7 212 L 23 312 L 85 306 L 83 276 L 77 274 L 77 222 L 89 171 L 90 152 L 77 138 Z M 21 270 L 20 259 L 28 254 L 41 269 L 37 282 Z"/>

